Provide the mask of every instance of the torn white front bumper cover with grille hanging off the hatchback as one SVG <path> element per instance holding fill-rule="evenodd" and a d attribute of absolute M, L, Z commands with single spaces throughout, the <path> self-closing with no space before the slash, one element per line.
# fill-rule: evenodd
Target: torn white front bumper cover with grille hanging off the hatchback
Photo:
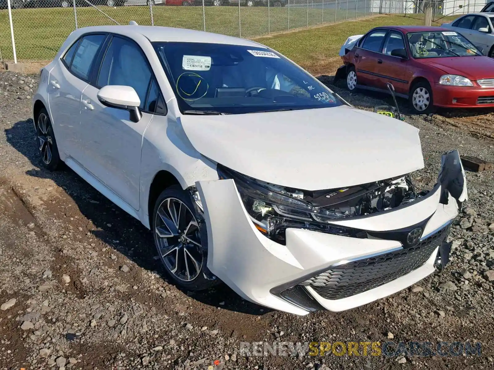
<path fill-rule="evenodd" d="M 198 182 L 197 188 L 207 225 L 207 267 L 245 299 L 298 315 L 357 307 L 444 267 L 449 225 L 467 199 L 454 150 L 443 155 L 438 184 L 424 197 L 331 222 L 364 230 L 367 238 L 288 228 L 282 245 L 256 229 L 234 180 Z"/>

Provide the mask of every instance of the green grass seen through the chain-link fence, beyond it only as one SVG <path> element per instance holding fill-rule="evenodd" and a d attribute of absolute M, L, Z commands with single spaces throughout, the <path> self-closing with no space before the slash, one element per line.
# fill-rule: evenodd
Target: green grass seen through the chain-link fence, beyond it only
<path fill-rule="evenodd" d="M 108 16 L 120 24 L 135 20 L 140 25 L 150 25 L 148 6 L 125 6 L 111 8 L 100 6 Z M 239 10 L 235 6 L 207 6 L 205 8 L 206 31 L 242 37 L 255 37 L 268 32 L 288 29 L 288 7 L 270 8 L 268 23 L 267 7 L 241 7 L 241 30 L 239 32 Z M 154 6 L 155 26 L 182 27 L 203 30 L 202 6 Z M 326 10 L 324 19 L 321 9 L 309 9 L 309 25 L 334 21 L 334 12 Z M 355 15 L 354 15 L 355 16 Z M 115 24 L 104 14 L 91 7 L 77 9 L 78 26 Z M 307 10 L 291 8 L 290 29 L 307 25 Z M 14 9 L 12 10 L 17 58 L 20 60 L 51 59 L 67 36 L 75 29 L 72 8 Z M 0 11 L 0 48 L 4 59 L 12 59 L 12 45 L 8 13 Z"/>

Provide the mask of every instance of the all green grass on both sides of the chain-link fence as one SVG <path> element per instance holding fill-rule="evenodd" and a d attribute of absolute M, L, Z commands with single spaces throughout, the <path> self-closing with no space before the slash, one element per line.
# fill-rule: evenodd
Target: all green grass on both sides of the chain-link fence
<path fill-rule="evenodd" d="M 125 6 L 111 8 L 99 7 L 108 16 L 120 24 L 135 20 L 141 25 L 150 25 L 149 7 Z M 346 9 L 296 8 L 291 7 L 288 21 L 288 7 L 270 8 L 268 22 L 267 7 L 241 7 L 241 29 L 239 30 L 239 13 L 235 6 L 207 6 L 205 8 L 206 31 L 231 36 L 258 37 L 268 33 L 280 33 L 289 29 L 321 25 L 361 17 L 364 13 L 346 12 Z M 201 6 L 155 6 L 153 7 L 156 26 L 183 27 L 203 30 L 203 8 Z M 411 17 L 412 16 L 412 17 Z M 114 24 L 108 17 L 94 8 L 77 9 L 79 27 Z M 14 9 L 12 10 L 17 59 L 22 61 L 44 61 L 52 59 L 60 45 L 75 29 L 72 8 L 51 9 Z M 444 19 L 442 22 L 446 22 Z M 360 34 L 378 25 L 422 24 L 423 18 L 417 14 L 407 17 L 379 16 L 359 19 L 358 22 L 342 22 L 335 25 L 310 28 L 288 34 L 278 34 L 258 38 L 266 45 L 279 50 L 295 62 L 316 72 L 318 66 L 324 66 L 325 60 L 338 55 L 338 50 L 350 35 Z M 0 11 L 0 51 L 1 58 L 12 60 L 10 28 L 6 10 Z"/>

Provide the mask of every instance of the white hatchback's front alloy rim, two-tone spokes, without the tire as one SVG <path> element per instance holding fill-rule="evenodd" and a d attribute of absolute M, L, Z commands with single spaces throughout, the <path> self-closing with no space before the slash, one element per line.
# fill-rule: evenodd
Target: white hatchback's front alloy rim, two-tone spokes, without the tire
<path fill-rule="evenodd" d="M 166 198 L 158 207 L 155 233 L 160 257 L 177 279 L 190 282 L 203 266 L 199 224 L 189 207 L 177 198 Z"/>

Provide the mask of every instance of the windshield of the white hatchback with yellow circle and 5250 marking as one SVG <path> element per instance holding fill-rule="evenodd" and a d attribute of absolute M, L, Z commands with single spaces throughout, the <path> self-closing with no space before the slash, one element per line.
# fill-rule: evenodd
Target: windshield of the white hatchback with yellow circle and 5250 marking
<path fill-rule="evenodd" d="M 155 42 L 185 114 L 238 114 L 335 107 L 340 99 L 270 49 L 200 42 Z"/>

